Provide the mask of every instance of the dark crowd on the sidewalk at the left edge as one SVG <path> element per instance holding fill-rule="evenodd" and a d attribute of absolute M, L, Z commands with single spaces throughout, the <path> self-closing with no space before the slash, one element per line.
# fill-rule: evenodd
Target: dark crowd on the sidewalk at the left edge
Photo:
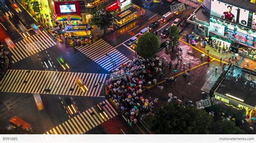
<path fill-rule="evenodd" d="M 1 58 L 1 66 L 0 66 L 0 76 L 5 74 L 5 72 L 10 68 L 10 54 L 8 51 L 5 50 L 4 45 L 0 43 L 0 58 Z"/>

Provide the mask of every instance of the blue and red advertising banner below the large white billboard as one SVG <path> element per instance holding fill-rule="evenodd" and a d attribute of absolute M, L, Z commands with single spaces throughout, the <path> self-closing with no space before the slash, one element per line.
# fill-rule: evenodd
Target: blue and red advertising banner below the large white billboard
<path fill-rule="evenodd" d="M 237 31 L 235 28 L 234 30 L 232 30 L 231 28 L 227 28 L 227 27 L 225 27 L 224 37 L 236 42 L 240 42 L 241 44 L 251 46 L 251 47 L 254 47 L 254 42 L 256 39 L 251 35 Z"/>

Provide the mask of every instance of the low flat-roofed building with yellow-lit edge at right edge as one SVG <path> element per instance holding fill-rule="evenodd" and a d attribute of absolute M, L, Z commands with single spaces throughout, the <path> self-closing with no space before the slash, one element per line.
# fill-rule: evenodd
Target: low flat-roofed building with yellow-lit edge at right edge
<path fill-rule="evenodd" d="M 228 65 L 214 83 L 210 96 L 238 110 L 250 121 L 256 117 L 256 72 Z"/>

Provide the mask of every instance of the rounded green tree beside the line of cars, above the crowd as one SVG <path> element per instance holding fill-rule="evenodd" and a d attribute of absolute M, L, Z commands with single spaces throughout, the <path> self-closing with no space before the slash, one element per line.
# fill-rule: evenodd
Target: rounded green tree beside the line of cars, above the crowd
<path fill-rule="evenodd" d="M 151 32 L 146 32 L 140 36 L 136 48 L 136 52 L 143 58 L 151 58 L 156 54 L 160 46 L 160 39 Z"/>

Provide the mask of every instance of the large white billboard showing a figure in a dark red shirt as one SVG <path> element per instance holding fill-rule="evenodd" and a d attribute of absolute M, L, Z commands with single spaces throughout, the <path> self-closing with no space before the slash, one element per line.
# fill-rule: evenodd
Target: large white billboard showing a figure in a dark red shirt
<path fill-rule="evenodd" d="M 252 12 L 219 1 L 212 1 L 211 15 L 247 27 L 252 25 Z"/>

